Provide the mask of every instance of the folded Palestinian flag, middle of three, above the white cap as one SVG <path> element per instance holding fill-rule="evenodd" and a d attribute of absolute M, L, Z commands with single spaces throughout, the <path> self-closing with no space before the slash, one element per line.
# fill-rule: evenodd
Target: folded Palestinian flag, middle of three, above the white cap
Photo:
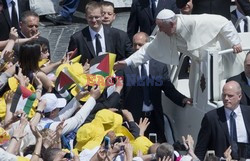
<path fill-rule="evenodd" d="M 56 79 L 55 89 L 63 98 L 68 101 L 71 99 L 68 89 L 74 83 L 75 81 L 71 78 L 67 68 L 64 68 Z"/>

